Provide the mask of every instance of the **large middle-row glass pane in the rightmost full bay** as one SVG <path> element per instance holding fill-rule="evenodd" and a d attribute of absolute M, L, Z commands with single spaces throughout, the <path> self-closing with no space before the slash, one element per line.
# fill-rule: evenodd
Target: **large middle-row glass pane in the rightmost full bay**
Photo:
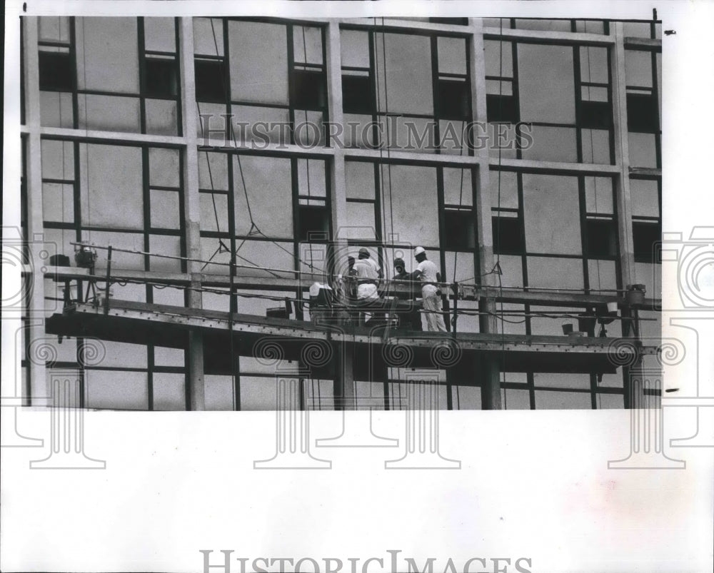
<path fill-rule="evenodd" d="M 528 252 L 582 252 L 578 178 L 523 173 L 523 214 Z"/>

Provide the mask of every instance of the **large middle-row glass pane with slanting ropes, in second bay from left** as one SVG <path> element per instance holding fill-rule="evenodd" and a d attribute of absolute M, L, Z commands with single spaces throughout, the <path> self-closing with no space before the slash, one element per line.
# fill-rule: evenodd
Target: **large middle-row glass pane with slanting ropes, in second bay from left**
<path fill-rule="evenodd" d="M 242 173 L 242 178 L 241 178 Z M 243 189 L 243 181 L 246 188 Z M 248 212 L 248 202 L 250 204 Z M 233 201 L 236 235 L 251 231 L 251 215 L 268 237 L 293 236 L 291 160 L 261 156 L 233 156 Z"/>

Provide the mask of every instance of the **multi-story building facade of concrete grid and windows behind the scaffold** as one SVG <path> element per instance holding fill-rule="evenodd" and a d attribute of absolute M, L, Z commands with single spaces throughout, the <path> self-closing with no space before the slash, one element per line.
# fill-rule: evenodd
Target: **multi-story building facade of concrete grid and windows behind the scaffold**
<path fill-rule="evenodd" d="M 347 253 L 367 248 L 391 278 L 394 258 L 411 270 L 421 245 L 461 287 L 443 288 L 461 360 L 430 368 L 442 407 L 633 405 L 628 366 L 596 338 L 659 335 L 658 22 L 41 16 L 21 26 L 24 235 L 71 260 L 77 243 L 96 245 L 109 306 L 134 320 L 46 328 L 29 311 L 26 396 L 44 395 L 59 368 L 80 373 L 84 407 L 269 410 L 275 365 L 241 345 L 240 319 L 227 319 L 229 339 L 191 320 L 265 318 L 288 298 L 287 320 L 307 326 L 301 301 L 344 272 Z M 67 306 L 86 298 L 86 269 L 49 267 L 40 280 L 38 256 L 31 249 L 29 309 L 59 315 L 63 288 Z M 636 308 L 630 285 L 646 288 Z M 608 303 L 620 314 L 600 324 Z M 185 308 L 187 334 L 171 338 L 165 317 L 149 328 L 153 305 Z M 563 323 L 583 330 L 587 313 L 590 336 L 565 335 Z M 276 324 L 253 334 L 276 335 Z M 300 325 L 281 328 L 301 338 Z M 87 356 L 94 338 L 101 360 Z M 39 339 L 49 360 L 31 356 Z M 400 407 L 424 365 L 383 358 L 389 342 L 365 339 L 373 367 L 341 355 L 337 369 L 301 377 L 301 407 L 329 409 L 336 395 Z"/>

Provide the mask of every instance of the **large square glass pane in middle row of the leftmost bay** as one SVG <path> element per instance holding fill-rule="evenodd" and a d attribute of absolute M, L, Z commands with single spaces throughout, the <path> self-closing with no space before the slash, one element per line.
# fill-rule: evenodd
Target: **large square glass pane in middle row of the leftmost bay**
<path fill-rule="evenodd" d="M 79 161 L 82 223 L 143 229 L 141 148 L 80 143 Z"/>

